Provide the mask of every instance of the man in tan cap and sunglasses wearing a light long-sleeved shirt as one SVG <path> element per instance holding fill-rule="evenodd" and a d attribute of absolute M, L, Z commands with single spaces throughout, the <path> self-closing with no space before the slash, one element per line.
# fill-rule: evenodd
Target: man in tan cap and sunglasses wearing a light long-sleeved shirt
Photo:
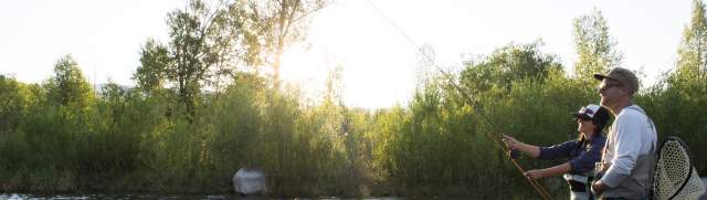
<path fill-rule="evenodd" d="M 602 199 L 647 199 L 657 134 L 651 118 L 633 104 L 639 78 L 622 67 L 614 67 L 606 75 L 594 74 L 594 77 L 601 81 L 601 105 L 609 108 L 615 119 L 597 169 L 601 179 L 591 189 Z"/>

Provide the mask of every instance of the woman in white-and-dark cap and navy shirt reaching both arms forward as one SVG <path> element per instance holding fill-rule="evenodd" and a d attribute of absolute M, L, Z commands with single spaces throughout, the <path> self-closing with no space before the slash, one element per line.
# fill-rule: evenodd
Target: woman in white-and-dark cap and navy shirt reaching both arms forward
<path fill-rule="evenodd" d="M 520 150 L 532 158 L 560 159 L 569 161 L 559 166 L 534 169 L 525 172 L 531 179 L 563 175 L 570 185 L 570 199 L 589 199 L 587 176 L 594 170 L 594 162 L 601 159 L 601 150 L 606 138 L 602 130 L 609 120 L 609 110 L 595 104 L 582 107 L 573 114 L 579 127 L 579 138 L 549 147 L 528 145 L 504 135 L 504 141 L 511 150 Z"/>

